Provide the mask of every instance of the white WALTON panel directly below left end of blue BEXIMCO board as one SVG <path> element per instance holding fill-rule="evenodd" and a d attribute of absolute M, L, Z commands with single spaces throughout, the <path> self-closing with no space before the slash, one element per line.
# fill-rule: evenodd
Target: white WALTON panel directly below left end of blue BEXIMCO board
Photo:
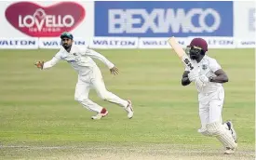
<path fill-rule="evenodd" d="M 91 48 L 138 48 L 136 37 L 94 37 L 90 40 Z"/>

